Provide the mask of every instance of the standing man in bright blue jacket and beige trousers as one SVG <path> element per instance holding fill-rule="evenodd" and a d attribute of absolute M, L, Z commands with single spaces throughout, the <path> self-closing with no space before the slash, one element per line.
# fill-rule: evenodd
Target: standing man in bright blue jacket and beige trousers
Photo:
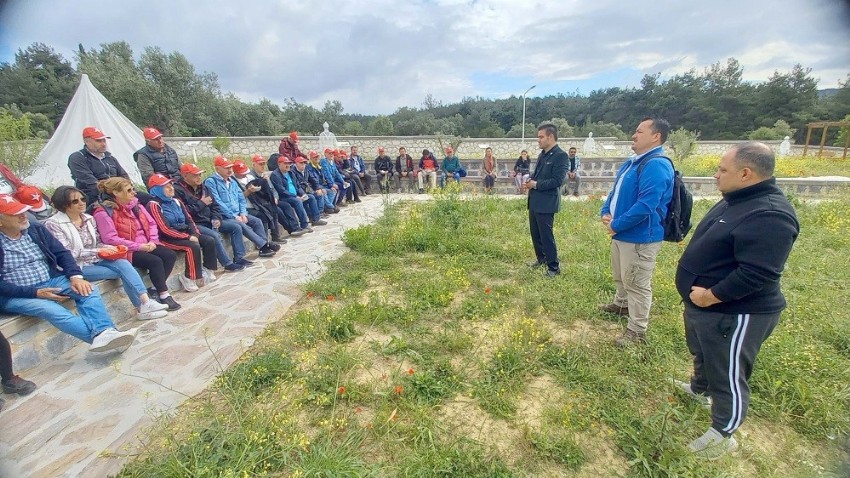
<path fill-rule="evenodd" d="M 617 171 L 602 205 L 602 224 L 611 235 L 611 270 L 617 292 L 604 312 L 628 316 L 619 347 L 646 342 L 652 306 L 652 272 L 664 239 L 662 221 L 673 197 L 673 168 L 661 147 L 670 123 L 645 118 L 632 135 L 635 152 Z"/>

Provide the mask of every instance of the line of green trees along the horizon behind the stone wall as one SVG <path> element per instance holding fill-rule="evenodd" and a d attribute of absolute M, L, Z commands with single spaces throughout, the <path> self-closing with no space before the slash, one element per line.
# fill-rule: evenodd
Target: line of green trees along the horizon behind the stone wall
<path fill-rule="evenodd" d="M 287 98 L 245 102 L 222 92 L 215 73 L 197 72 L 179 52 L 145 48 L 138 60 L 126 42 L 86 50 L 80 45 L 76 67 L 51 47 L 34 43 L 19 50 L 13 63 L 0 63 L 0 113 L 27 115 L 32 136 L 47 137 L 59 122 L 79 76 L 92 83 L 138 125 L 154 125 L 172 136 L 275 136 L 290 130 L 315 134 L 327 121 L 345 135 L 429 135 L 463 137 L 533 137 L 536 125 L 558 124 L 562 136 L 627 138 L 648 114 L 667 118 L 674 128 L 698 131 L 703 139 L 780 139 L 798 143 L 812 121 L 841 120 L 850 115 L 850 73 L 829 95 L 818 91 L 811 70 L 795 65 L 766 81 L 743 81 L 734 58 L 702 71 L 691 70 L 662 80 L 646 75 L 640 87 L 613 87 L 588 95 L 558 94 L 528 98 L 526 124 L 522 98 L 464 98 L 443 104 L 433 96 L 421 105 L 389 115 L 345 113 L 341 102 L 319 109 Z M 830 141 L 839 132 L 833 130 Z M 846 134 L 846 133 L 845 133 Z M 819 137 L 818 137 L 819 140 Z"/>

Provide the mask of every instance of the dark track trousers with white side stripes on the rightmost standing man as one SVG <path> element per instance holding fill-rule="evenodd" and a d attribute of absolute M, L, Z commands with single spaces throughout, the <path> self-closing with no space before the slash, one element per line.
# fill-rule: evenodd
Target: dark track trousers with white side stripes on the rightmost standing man
<path fill-rule="evenodd" d="M 750 404 L 750 375 L 780 313 L 723 314 L 685 304 L 685 340 L 694 356 L 691 390 L 711 397 L 711 427 L 729 436 Z"/>

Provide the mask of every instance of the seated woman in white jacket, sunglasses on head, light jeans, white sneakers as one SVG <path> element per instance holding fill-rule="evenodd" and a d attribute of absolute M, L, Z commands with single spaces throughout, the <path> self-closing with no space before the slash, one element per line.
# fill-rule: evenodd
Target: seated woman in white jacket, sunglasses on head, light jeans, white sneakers
<path fill-rule="evenodd" d="M 126 259 L 103 259 L 117 253 L 97 234 L 94 218 L 85 213 L 86 196 L 73 186 L 59 186 L 50 198 L 57 212 L 44 221 L 44 226 L 59 242 L 71 251 L 74 260 L 88 281 L 121 279 L 124 291 L 142 320 L 165 317 L 168 306 L 148 297 L 145 283 Z"/>

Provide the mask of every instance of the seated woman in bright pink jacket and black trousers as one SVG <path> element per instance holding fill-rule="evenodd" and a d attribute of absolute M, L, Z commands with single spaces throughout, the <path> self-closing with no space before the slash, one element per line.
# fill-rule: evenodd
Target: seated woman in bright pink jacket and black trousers
<path fill-rule="evenodd" d="M 177 254 L 159 241 L 156 223 L 136 199 L 129 179 L 114 177 L 97 183 L 100 201 L 93 204 L 94 221 L 104 244 L 126 246 L 127 259 L 145 269 L 153 282 L 160 302 L 168 310 L 180 308 L 165 284 L 177 261 Z"/>

